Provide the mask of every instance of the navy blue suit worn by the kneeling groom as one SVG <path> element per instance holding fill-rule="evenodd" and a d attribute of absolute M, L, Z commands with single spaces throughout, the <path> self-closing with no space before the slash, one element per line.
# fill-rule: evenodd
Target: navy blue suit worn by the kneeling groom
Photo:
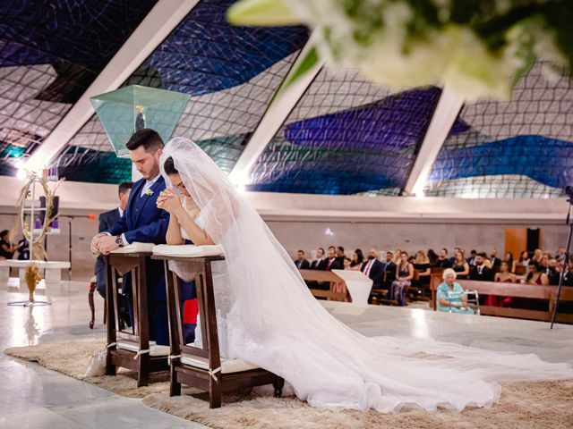
<path fill-rule="evenodd" d="M 107 232 L 111 235 L 125 234 L 129 243 L 165 244 L 169 214 L 157 206 L 159 193 L 166 188 L 163 177 L 153 183 L 147 195 L 141 195 L 145 179 L 133 183 L 124 215 Z M 163 262 L 147 260 L 147 290 L 150 311 L 150 339 L 158 344 L 169 344 L 167 320 L 167 294 Z M 133 311 L 131 276 L 124 275 L 123 292 L 128 297 L 130 311 Z"/>

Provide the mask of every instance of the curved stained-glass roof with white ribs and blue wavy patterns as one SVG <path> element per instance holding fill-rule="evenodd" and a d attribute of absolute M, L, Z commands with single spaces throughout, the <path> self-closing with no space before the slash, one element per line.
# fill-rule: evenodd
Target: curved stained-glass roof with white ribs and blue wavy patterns
<path fill-rule="evenodd" d="M 573 181 L 573 85 L 537 63 L 507 103 L 392 91 L 320 64 L 280 97 L 304 27 L 227 23 L 234 0 L 0 5 L 0 174 L 22 156 L 68 181 L 131 177 L 89 97 L 126 85 L 189 94 L 174 136 L 246 189 L 326 195 L 554 198 Z"/>

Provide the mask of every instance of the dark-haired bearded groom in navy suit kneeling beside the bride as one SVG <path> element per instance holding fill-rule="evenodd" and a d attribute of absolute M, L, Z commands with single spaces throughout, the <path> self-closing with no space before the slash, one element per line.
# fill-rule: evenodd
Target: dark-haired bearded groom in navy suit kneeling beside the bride
<path fill-rule="evenodd" d="M 158 209 L 159 193 L 166 189 L 159 170 L 159 157 L 163 153 L 163 140 L 155 130 L 136 131 L 126 144 L 132 163 L 143 178 L 133 183 L 132 192 L 122 217 L 110 229 L 98 233 L 91 240 L 94 255 L 107 255 L 116 248 L 133 241 L 164 244 L 169 214 Z M 150 339 L 158 344 L 169 344 L 167 321 L 167 295 L 162 261 L 146 261 Z M 133 319 L 133 293 L 131 276 L 124 275 L 123 292 L 129 303 Z"/>

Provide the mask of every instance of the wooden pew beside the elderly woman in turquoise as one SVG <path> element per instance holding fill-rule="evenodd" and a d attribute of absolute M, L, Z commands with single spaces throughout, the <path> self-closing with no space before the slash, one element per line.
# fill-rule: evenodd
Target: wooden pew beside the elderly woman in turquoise
<path fill-rule="evenodd" d="M 480 306 L 482 315 L 497 315 L 500 317 L 513 317 L 517 319 L 541 320 L 549 322 L 557 297 L 557 286 L 540 286 L 536 284 L 521 284 L 508 282 L 478 282 L 473 280 L 458 280 L 464 290 L 477 290 L 480 295 L 498 295 L 502 297 L 542 299 L 547 301 L 547 311 L 531 310 L 514 307 Z M 436 290 L 440 283 L 432 284 L 432 303 L 436 309 Z M 560 304 L 563 301 L 573 301 L 573 287 L 561 289 Z M 557 322 L 573 324 L 573 314 L 558 313 Z"/>

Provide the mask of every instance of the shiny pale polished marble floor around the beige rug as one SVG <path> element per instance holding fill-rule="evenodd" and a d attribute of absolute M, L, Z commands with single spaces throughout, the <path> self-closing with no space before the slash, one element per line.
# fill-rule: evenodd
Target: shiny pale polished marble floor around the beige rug
<path fill-rule="evenodd" d="M 97 295 L 96 327 L 90 330 L 87 284 L 62 282 L 37 299 L 47 307 L 10 307 L 25 293 L 0 284 L 0 348 L 103 337 L 103 301 Z M 367 336 L 404 335 L 458 342 L 493 350 L 535 353 L 552 362 L 573 364 L 573 325 L 549 325 L 487 316 L 435 313 L 412 307 L 353 306 L 323 302 L 339 320 Z M 201 428 L 41 366 L 0 354 L 0 427 L 31 428 Z"/>

